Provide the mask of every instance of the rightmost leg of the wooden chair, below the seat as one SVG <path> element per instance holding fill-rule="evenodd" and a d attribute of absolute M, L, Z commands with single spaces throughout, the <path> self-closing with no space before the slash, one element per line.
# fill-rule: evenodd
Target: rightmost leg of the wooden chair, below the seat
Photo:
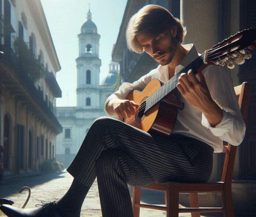
<path fill-rule="evenodd" d="M 223 214 L 224 217 L 234 217 L 234 207 L 232 200 L 232 187 L 230 184 L 224 185 L 224 191 L 221 192 L 222 196 L 222 206 L 223 206 Z"/>

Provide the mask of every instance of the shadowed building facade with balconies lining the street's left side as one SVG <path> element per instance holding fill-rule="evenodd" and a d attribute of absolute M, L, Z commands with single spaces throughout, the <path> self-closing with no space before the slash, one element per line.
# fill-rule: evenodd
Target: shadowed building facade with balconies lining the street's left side
<path fill-rule="evenodd" d="M 40 0 L 0 0 L 0 24 L 0 163 L 5 174 L 39 171 L 62 132 L 60 63 Z"/>

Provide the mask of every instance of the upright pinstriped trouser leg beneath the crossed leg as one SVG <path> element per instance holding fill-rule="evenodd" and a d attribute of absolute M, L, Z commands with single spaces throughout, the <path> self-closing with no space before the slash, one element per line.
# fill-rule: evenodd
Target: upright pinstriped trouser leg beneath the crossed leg
<path fill-rule="evenodd" d="M 103 217 L 133 217 L 127 183 L 155 183 L 147 170 L 120 148 L 103 151 L 97 159 L 97 182 Z"/>

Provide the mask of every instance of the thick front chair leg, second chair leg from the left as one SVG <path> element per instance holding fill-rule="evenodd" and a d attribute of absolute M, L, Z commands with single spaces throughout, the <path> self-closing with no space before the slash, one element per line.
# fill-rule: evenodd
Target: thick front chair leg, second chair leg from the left
<path fill-rule="evenodd" d="M 171 183 L 167 187 L 166 192 L 167 212 L 166 217 L 179 216 L 179 185 Z"/>

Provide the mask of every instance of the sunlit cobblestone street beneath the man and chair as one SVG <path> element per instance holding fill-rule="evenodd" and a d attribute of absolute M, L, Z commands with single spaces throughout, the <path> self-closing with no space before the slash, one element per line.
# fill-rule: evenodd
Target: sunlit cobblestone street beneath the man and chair
<path fill-rule="evenodd" d="M 24 204 L 27 191 L 19 194 L 18 191 L 24 187 L 31 187 L 31 198 L 29 199 L 26 208 L 34 208 L 36 204 L 40 204 L 40 201 L 54 201 L 65 194 L 70 187 L 73 177 L 65 170 L 62 173 L 49 173 L 38 174 L 34 176 L 10 179 L 9 183 L 3 183 L 0 185 L 0 198 L 8 198 L 14 201 L 14 206 L 22 207 Z M 157 192 L 158 193 L 158 192 Z M 152 198 L 152 193 L 146 194 L 142 192 L 142 198 Z M 153 195 L 154 196 L 154 195 Z M 160 198 L 158 201 L 163 204 L 163 195 L 157 195 Z M 154 196 L 154 197 L 156 197 Z M 162 198 L 162 199 L 161 199 Z M 0 216 L 5 216 L 0 211 Z M 97 181 L 94 182 L 90 189 L 85 201 L 83 202 L 81 217 L 101 217 L 99 192 L 97 187 Z M 180 217 L 189 217 L 189 214 L 180 214 Z M 141 217 L 165 217 L 165 212 L 158 210 L 141 209 Z"/>

